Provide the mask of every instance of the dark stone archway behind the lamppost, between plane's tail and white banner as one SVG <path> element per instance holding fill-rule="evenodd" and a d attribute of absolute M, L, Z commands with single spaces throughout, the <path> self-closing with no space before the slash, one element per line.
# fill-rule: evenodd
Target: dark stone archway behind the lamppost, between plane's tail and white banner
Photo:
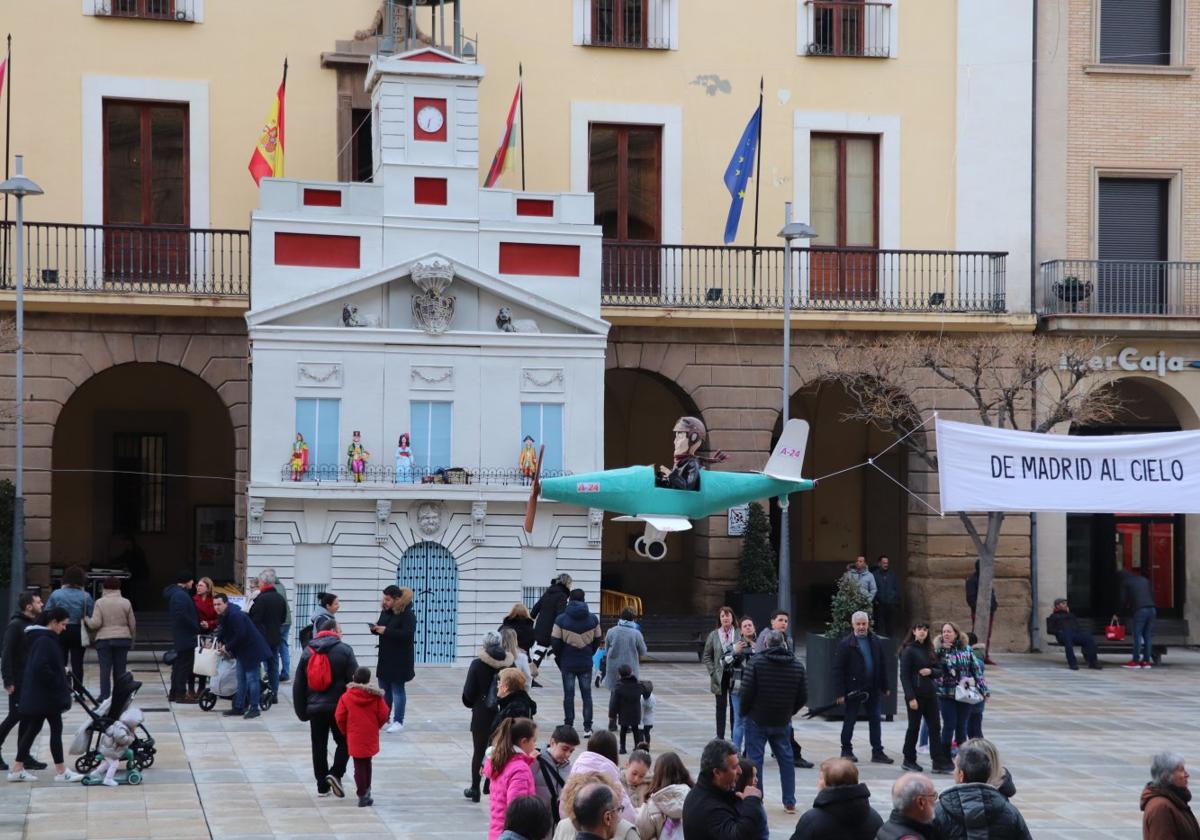
<path fill-rule="evenodd" d="M 788 407 L 791 416 L 808 420 L 810 426 L 804 475 L 829 476 L 812 491 L 792 496 L 788 508 L 792 604 L 796 620 L 806 628 L 823 626 L 838 578 L 859 554 L 872 568 L 876 558 L 887 554 L 901 586 L 907 575 L 904 487 L 908 451 L 894 446 L 881 456 L 895 436 L 868 422 L 846 420 L 854 408 L 845 388 L 827 380 L 802 388 L 792 395 Z M 773 440 L 779 438 L 780 428 L 776 421 Z M 869 457 L 880 469 L 851 469 Z M 780 509 L 774 503 L 770 522 L 778 550 Z"/>

